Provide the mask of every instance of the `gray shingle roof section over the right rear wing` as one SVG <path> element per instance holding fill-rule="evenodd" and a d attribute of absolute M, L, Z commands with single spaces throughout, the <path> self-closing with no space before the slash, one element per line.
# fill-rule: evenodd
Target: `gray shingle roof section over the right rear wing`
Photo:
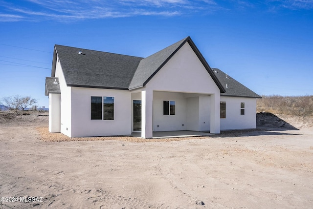
<path fill-rule="evenodd" d="M 222 70 L 218 68 L 212 68 L 212 71 L 215 73 L 216 77 L 219 79 L 220 83 L 226 90 L 225 93 L 221 93 L 221 96 L 261 98 L 258 94 L 254 93 L 229 75 L 227 75 L 226 78 L 226 73 L 224 73 Z"/>

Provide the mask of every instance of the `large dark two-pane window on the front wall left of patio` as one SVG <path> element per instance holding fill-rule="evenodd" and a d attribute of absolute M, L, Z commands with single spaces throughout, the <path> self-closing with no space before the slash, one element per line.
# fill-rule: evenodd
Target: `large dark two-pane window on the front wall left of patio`
<path fill-rule="evenodd" d="M 114 120 L 114 97 L 91 97 L 91 120 L 102 119 Z"/>

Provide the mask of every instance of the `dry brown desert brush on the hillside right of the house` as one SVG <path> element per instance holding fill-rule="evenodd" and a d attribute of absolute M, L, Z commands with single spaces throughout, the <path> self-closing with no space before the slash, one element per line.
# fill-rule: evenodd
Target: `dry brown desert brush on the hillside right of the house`
<path fill-rule="evenodd" d="M 258 112 L 297 116 L 313 115 L 313 96 L 262 96 L 257 100 Z"/>

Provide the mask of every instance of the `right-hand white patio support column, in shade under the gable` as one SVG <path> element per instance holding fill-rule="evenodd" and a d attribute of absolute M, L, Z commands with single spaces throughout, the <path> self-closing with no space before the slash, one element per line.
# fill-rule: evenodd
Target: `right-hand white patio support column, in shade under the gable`
<path fill-rule="evenodd" d="M 210 133 L 221 132 L 220 101 L 220 94 L 211 94 Z"/>

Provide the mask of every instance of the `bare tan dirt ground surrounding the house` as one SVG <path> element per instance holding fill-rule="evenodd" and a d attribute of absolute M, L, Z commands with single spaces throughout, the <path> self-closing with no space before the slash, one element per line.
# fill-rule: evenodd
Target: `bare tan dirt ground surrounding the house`
<path fill-rule="evenodd" d="M 300 130 L 65 141 L 45 113 L 2 114 L 0 209 L 310 209 L 313 127 L 288 123 Z"/>

